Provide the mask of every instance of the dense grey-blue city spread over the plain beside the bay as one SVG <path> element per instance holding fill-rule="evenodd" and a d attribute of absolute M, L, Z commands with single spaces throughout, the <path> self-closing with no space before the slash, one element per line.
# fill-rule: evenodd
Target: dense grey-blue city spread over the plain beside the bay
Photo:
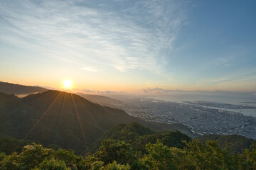
<path fill-rule="evenodd" d="M 199 104 L 193 102 L 166 102 L 152 98 L 129 98 L 122 109 L 144 120 L 160 123 L 182 123 L 198 135 L 244 135 L 256 139 L 256 118 L 238 112 L 210 108 L 209 102 Z M 214 106 L 220 103 L 215 103 Z M 213 106 L 213 103 L 211 103 Z M 224 108 L 242 108 L 221 104 Z"/>

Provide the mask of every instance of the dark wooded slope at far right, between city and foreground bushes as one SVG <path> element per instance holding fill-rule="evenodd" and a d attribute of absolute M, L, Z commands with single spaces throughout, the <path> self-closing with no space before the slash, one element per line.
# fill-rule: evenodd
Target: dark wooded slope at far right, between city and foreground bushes
<path fill-rule="evenodd" d="M 232 154 L 242 153 L 245 149 L 250 149 L 252 142 L 256 142 L 256 140 L 241 135 L 203 135 L 197 137 L 197 139 L 204 144 L 206 144 L 207 140 L 215 140 L 221 148 L 225 148 L 228 142 Z"/>

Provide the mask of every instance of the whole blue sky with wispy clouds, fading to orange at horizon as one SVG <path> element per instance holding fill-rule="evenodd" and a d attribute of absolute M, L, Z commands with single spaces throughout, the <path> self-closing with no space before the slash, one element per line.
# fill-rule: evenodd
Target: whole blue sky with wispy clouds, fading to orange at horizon
<path fill-rule="evenodd" d="M 256 91 L 256 1 L 0 1 L 0 81 Z"/>

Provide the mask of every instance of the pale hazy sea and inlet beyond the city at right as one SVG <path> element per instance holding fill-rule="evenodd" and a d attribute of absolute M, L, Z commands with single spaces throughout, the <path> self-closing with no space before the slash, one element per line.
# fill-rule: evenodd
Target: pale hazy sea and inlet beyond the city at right
<path fill-rule="evenodd" d="M 232 93 L 232 92 L 202 92 L 202 91 L 172 91 L 166 95 L 151 96 L 157 100 L 171 101 L 183 103 L 184 101 L 209 101 L 215 103 L 228 103 L 242 106 L 256 107 L 255 93 Z M 243 115 L 251 115 L 256 117 L 256 108 L 250 109 L 228 109 L 218 108 L 225 111 L 233 111 L 242 113 Z"/>

